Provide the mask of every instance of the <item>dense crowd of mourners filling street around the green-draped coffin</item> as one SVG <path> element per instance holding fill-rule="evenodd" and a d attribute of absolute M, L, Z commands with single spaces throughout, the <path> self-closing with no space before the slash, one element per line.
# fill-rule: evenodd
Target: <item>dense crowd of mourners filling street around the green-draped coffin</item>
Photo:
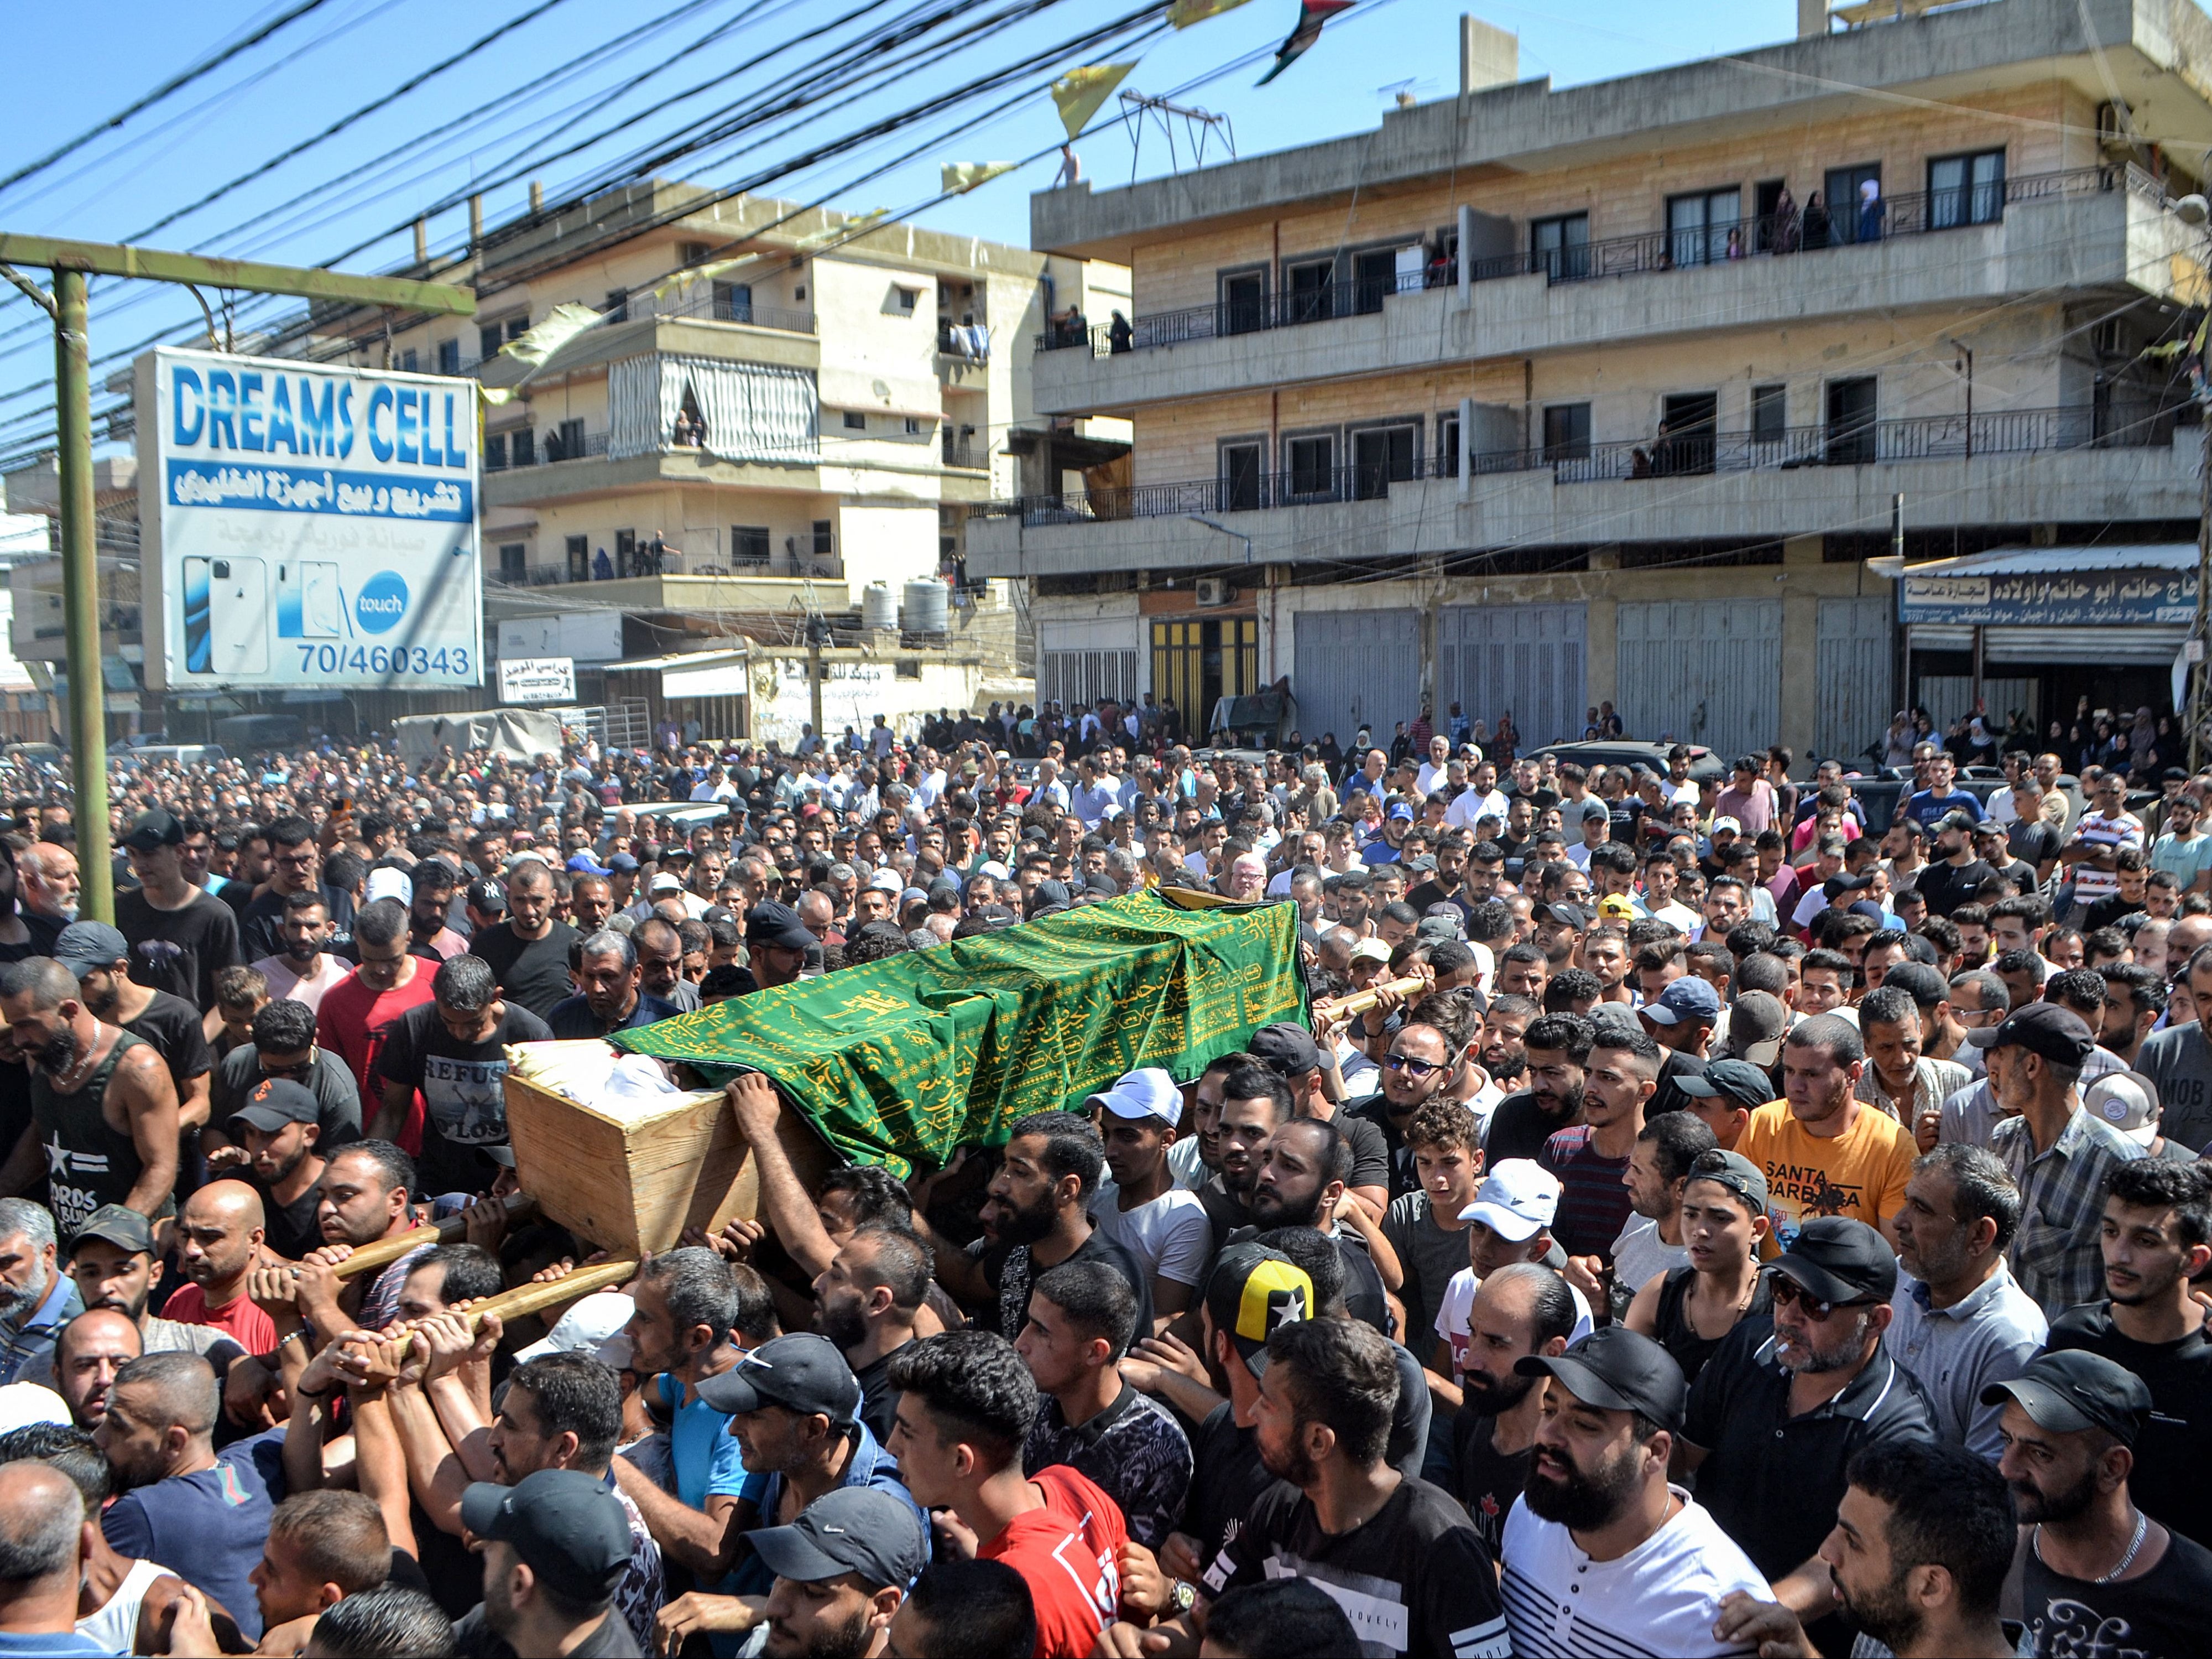
<path fill-rule="evenodd" d="M 2212 776 L 975 726 L 126 761 L 113 922 L 0 772 L 0 1655 L 2201 1652 Z M 1172 889 L 1310 1018 L 907 1181 L 741 1075 L 500 1316 L 511 1044 Z"/>

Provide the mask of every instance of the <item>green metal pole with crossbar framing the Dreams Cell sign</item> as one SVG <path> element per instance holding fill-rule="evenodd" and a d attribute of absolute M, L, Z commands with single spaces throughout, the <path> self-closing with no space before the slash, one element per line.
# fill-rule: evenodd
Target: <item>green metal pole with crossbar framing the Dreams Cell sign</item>
<path fill-rule="evenodd" d="M 53 272 L 46 294 L 15 265 Z M 91 922 L 115 920 L 115 849 L 108 838 L 108 728 L 100 679 L 100 553 L 93 520 L 93 352 L 84 279 L 142 276 L 161 283 L 341 299 L 403 312 L 473 316 L 476 294 L 447 283 L 394 276 L 343 276 L 334 270 L 261 265 L 243 259 L 201 259 L 155 248 L 97 241 L 0 234 L 0 276 L 29 294 L 53 319 L 53 416 L 60 458 L 62 619 L 69 644 L 69 750 L 75 765 L 77 867 L 84 876 L 80 914 Z M 206 305 L 206 301 L 201 301 Z M 212 334 L 212 323 L 210 323 Z M 159 418 L 146 411 L 146 418 Z M 139 566 L 139 584 L 161 571 Z M 155 646 L 159 650 L 159 646 Z"/>

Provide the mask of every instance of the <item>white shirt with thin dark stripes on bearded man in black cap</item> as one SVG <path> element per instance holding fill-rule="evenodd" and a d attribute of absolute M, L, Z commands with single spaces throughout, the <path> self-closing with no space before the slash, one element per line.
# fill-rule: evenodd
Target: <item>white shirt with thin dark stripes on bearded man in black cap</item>
<path fill-rule="evenodd" d="M 1681 1511 L 1617 1562 L 1593 1562 L 1566 1526 L 1513 1500 L 1500 1553 L 1515 1659 L 1743 1652 L 1714 1639 L 1712 1617 L 1736 1590 L 1765 1601 L 1765 1573 L 1690 1493 L 1668 1491 Z"/>

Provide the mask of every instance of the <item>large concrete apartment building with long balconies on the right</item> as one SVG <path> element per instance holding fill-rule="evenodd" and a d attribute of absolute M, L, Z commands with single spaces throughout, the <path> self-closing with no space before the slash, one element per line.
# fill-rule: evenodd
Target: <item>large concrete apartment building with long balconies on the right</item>
<path fill-rule="evenodd" d="M 2064 577 L 2194 542 L 2194 409 L 2141 354 L 2205 301 L 2172 204 L 2212 20 L 1818 7 L 1568 91 L 1462 20 L 1462 93 L 1371 133 L 1035 195 L 1035 248 L 1135 299 L 1119 347 L 1055 327 L 1031 367 L 1040 418 L 1130 422 L 1130 484 L 1062 476 L 969 531 L 971 575 L 1029 584 L 1040 695 L 1203 721 L 1287 677 L 1343 743 L 1425 699 L 1524 743 L 1613 701 L 1635 737 L 1801 754 L 1856 754 L 1902 697 L 2166 706 L 2172 606 L 1907 633 L 1869 560 L 1898 495 L 1907 560 Z"/>

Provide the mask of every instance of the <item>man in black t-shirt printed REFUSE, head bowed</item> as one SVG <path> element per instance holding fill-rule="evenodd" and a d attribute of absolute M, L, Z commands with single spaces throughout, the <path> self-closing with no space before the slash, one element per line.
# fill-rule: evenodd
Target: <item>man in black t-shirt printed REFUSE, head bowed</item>
<path fill-rule="evenodd" d="M 422 1192 L 484 1192 L 498 1179 L 484 1148 L 507 1141 L 507 1044 L 551 1042 L 546 1022 L 498 1000 L 491 967 L 456 956 L 431 980 L 434 1002 L 409 1009 L 376 1055 L 383 1104 L 374 1139 L 392 1139 L 422 1095 Z"/>

